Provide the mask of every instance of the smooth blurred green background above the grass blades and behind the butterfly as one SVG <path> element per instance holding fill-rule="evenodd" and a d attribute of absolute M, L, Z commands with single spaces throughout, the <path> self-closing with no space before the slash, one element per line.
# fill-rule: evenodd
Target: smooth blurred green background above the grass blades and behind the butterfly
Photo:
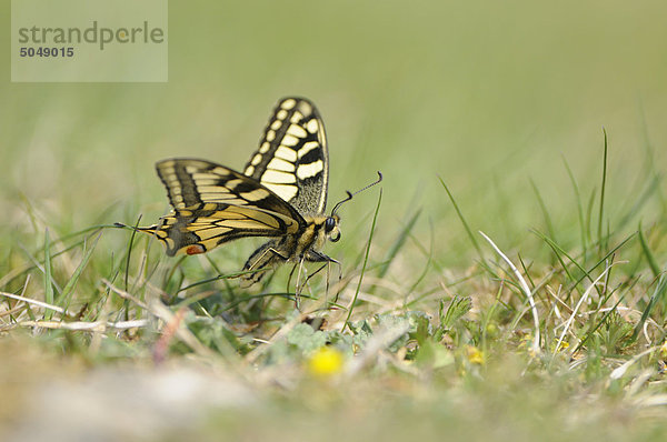
<path fill-rule="evenodd" d="M 30 231 L 26 200 L 61 232 L 140 212 L 152 222 L 167 208 L 155 161 L 240 169 L 288 94 L 325 119 L 330 202 L 381 170 L 378 248 L 422 208 L 417 234 L 450 264 L 469 264 L 470 248 L 438 177 L 474 230 L 515 245 L 544 222 L 530 179 L 576 238 L 563 159 L 588 200 L 603 127 L 611 219 L 665 163 L 663 1 L 171 1 L 169 16 L 163 84 L 11 83 L 0 46 L 3 229 Z M 358 249 L 375 198 L 345 208 L 338 247 Z"/>

